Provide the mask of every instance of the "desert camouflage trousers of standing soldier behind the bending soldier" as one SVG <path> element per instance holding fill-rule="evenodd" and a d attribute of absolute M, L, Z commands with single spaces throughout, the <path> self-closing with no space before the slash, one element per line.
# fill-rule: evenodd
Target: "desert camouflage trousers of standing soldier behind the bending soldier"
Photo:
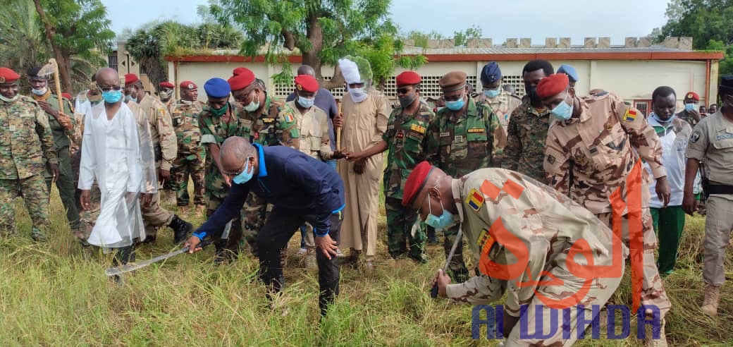
<path fill-rule="evenodd" d="M 613 230 L 613 216 L 610 212 L 598 213 L 595 216 Z M 652 213 L 649 208 L 642 208 L 641 224 L 643 227 L 644 252 L 641 261 L 644 263 L 644 280 L 641 282 L 641 304 L 647 306 L 656 306 L 659 309 L 661 317 L 667 313 L 671 307 L 671 302 L 667 297 L 662 278 L 659 276 L 657 263 L 654 260 L 654 251 L 657 248 L 657 235 L 654 232 L 654 224 L 652 223 Z M 629 248 L 629 220 L 627 216 L 622 219 L 622 239 Z M 639 261 L 635 259 L 633 252 L 629 257 L 629 262 Z"/>

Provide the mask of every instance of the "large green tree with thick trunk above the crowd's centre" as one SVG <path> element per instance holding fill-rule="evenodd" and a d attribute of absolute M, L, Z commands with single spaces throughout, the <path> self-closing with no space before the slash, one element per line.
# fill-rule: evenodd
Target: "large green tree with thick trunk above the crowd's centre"
<path fill-rule="evenodd" d="M 347 54 L 369 56 L 375 71 L 394 70 L 398 63 L 416 65 L 419 58 L 395 59 L 402 43 L 388 18 L 389 4 L 390 0 L 220 0 L 210 9 L 220 23 L 242 27 L 247 40 L 240 54 L 264 54 L 268 63 L 283 65 L 276 76 L 276 81 L 282 81 L 291 77 L 287 55 L 296 48 L 317 78 L 323 76 L 324 64 L 336 66 Z M 375 79 L 383 77 L 375 73 Z M 343 83 L 336 66 L 334 77 L 321 85 L 331 89 Z"/>

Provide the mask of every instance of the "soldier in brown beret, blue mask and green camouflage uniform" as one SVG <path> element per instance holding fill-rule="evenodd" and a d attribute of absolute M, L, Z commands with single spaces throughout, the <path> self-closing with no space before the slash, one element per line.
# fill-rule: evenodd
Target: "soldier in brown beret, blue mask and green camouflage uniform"
<path fill-rule="evenodd" d="M 506 143 L 504 130 L 496 114 L 485 103 L 476 105 L 468 98 L 465 73 L 446 73 L 439 81 L 446 100 L 446 108 L 430 125 L 430 161 L 449 175 L 460 177 L 484 167 L 498 167 L 501 148 Z M 458 225 L 452 224 L 443 230 L 446 256 L 449 254 Z M 468 278 L 463 263 L 463 243 L 450 263 L 456 280 Z"/>

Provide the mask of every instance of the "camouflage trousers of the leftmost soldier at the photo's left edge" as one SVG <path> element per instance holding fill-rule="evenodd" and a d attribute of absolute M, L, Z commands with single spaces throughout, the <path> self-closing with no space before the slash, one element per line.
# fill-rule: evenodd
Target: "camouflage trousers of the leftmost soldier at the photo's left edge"
<path fill-rule="evenodd" d="M 33 222 L 31 235 L 43 238 L 51 227 L 51 219 L 48 219 L 48 191 L 41 175 L 20 180 L 0 180 L 0 237 L 17 233 L 15 197 L 23 197 L 23 204 Z"/>

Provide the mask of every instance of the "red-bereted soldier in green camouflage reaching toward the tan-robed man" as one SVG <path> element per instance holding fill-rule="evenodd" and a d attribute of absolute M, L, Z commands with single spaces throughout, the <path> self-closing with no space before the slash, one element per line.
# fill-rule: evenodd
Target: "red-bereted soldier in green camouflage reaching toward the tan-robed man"
<path fill-rule="evenodd" d="M 387 167 L 384 170 L 384 205 L 387 213 L 387 250 L 394 259 L 408 256 L 413 260 L 424 262 L 425 235 L 424 227 L 415 228 L 416 213 L 402 207 L 402 188 L 410 171 L 420 161 L 427 158 L 429 134 L 427 129 L 435 120 L 435 114 L 429 106 L 421 101 L 421 77 L 413 71 L 400 73 L 397 78 L 397 98 L 399 107 L 389 115 L 387 131 L 382 141 L 358 153 L 349 153 L 348 160 L 358 161 L 389 150 Z M 419 225 L 419 223 L 418 223 Z M 367 269 L 372 266 L 373 259 L 367 258 Z"/>

